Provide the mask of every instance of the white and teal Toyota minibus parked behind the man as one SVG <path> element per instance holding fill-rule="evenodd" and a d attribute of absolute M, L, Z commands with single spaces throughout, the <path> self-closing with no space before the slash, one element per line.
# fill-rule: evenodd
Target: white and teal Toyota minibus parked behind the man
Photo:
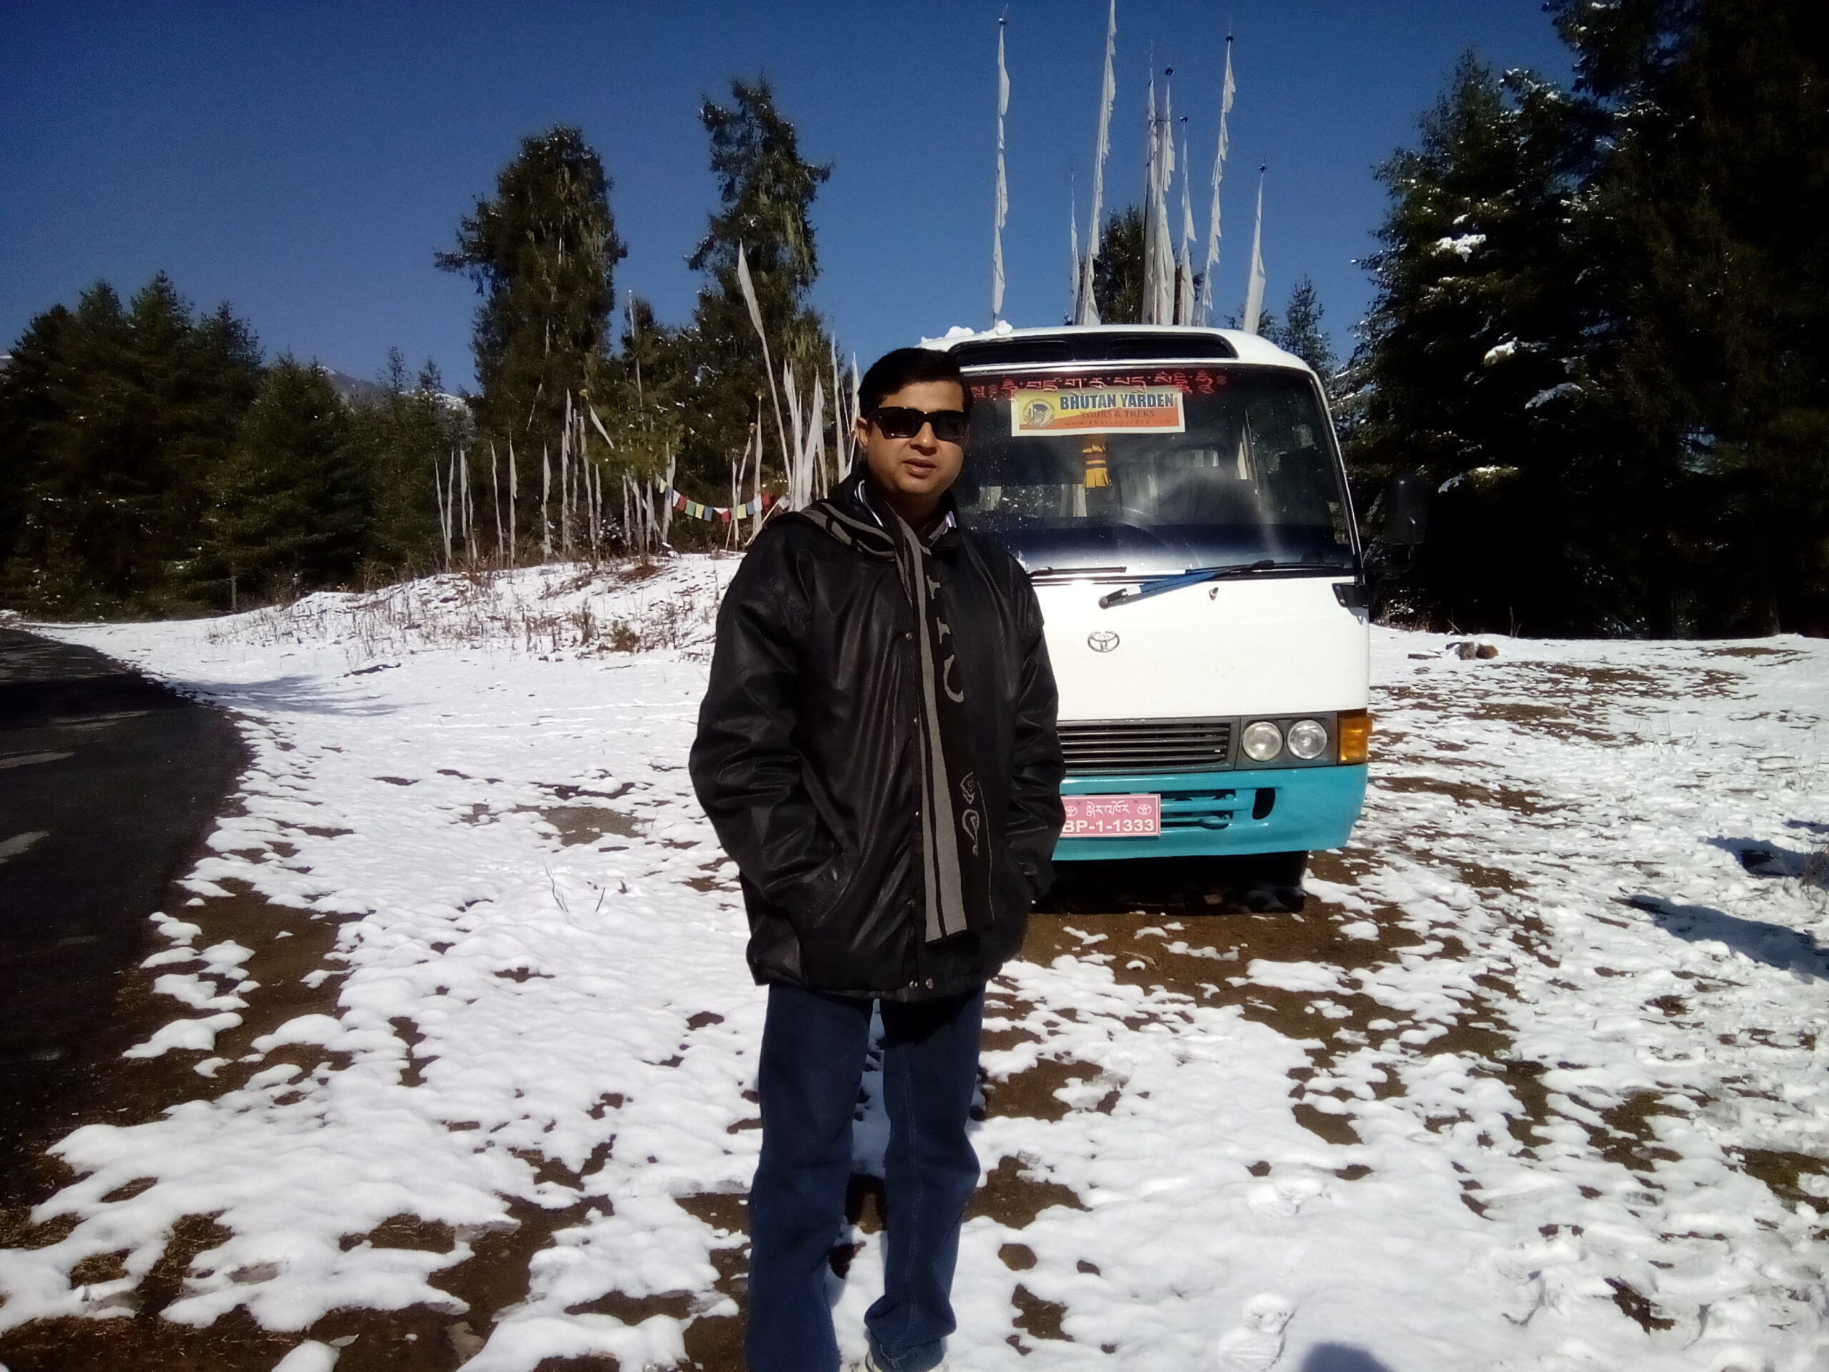
<path fill-rule="evenodd" d="M 1359 531 L 1315 373 L 1222 329 L 929 346 L 973 393 L 962 512 L 1048 624 L 1055 858 L 1260 856 L 1299 884 L 1352 832 L 1370 735 Z"/>

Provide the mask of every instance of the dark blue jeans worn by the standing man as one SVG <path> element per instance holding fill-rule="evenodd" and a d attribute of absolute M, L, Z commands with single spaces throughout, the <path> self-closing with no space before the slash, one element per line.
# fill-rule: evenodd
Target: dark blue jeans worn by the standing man
<path fill-rule="evenodd" d="M 882 1002 L 883 1295 L 863 1317 L 887 1372 L 927 1372 L 953 1332 L 958 1224 L 979 1184 L 966 1136 L 979 1077 L 984 991 Z M 827 1255 L 845 1222 L 850 1120 L 871 1001 L 768 988 L 757 1092 L 763 1158 L 750 1187 L 750 1372 L 836 1372 Z"/>

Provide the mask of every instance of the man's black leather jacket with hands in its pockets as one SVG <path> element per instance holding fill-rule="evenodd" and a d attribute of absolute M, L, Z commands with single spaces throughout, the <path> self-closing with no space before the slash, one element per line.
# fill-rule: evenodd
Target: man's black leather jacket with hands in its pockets
<path fill-rule="evenodd" d="M 935 543 L 962 648 L 991 820 L 993 920 L 927 944 L 914 611 L 894 563 L 783 516 L 743 558 L 717 616 L 691 779 L 743 873 L 757 982 L 924 1001 L 977 990 L 1022 946 L 1061 834 L 1055 688 L 1035 591 L 997 543 Z"/>

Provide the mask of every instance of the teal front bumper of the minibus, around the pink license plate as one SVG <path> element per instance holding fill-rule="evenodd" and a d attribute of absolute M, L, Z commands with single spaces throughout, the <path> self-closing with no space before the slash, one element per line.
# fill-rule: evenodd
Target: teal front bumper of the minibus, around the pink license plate
<path fill-rule="evenodd" d="M 1068 777 L 1063 796 L 1161 796 L 1158 838 L 1063 838 L 1055 862 L 1311 852 L 1346 843 L 1366 798 L 1366 768 L 1275 766 Z"/>

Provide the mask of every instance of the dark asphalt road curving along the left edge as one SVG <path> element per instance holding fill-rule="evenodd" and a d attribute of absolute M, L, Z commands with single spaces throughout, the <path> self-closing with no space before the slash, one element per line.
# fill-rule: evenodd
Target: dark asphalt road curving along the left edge
<path fill-rule="evenodd" d="M 104 1030 L 241 761 L 219 710 L 0 629 L 0 1167 Z"/>

